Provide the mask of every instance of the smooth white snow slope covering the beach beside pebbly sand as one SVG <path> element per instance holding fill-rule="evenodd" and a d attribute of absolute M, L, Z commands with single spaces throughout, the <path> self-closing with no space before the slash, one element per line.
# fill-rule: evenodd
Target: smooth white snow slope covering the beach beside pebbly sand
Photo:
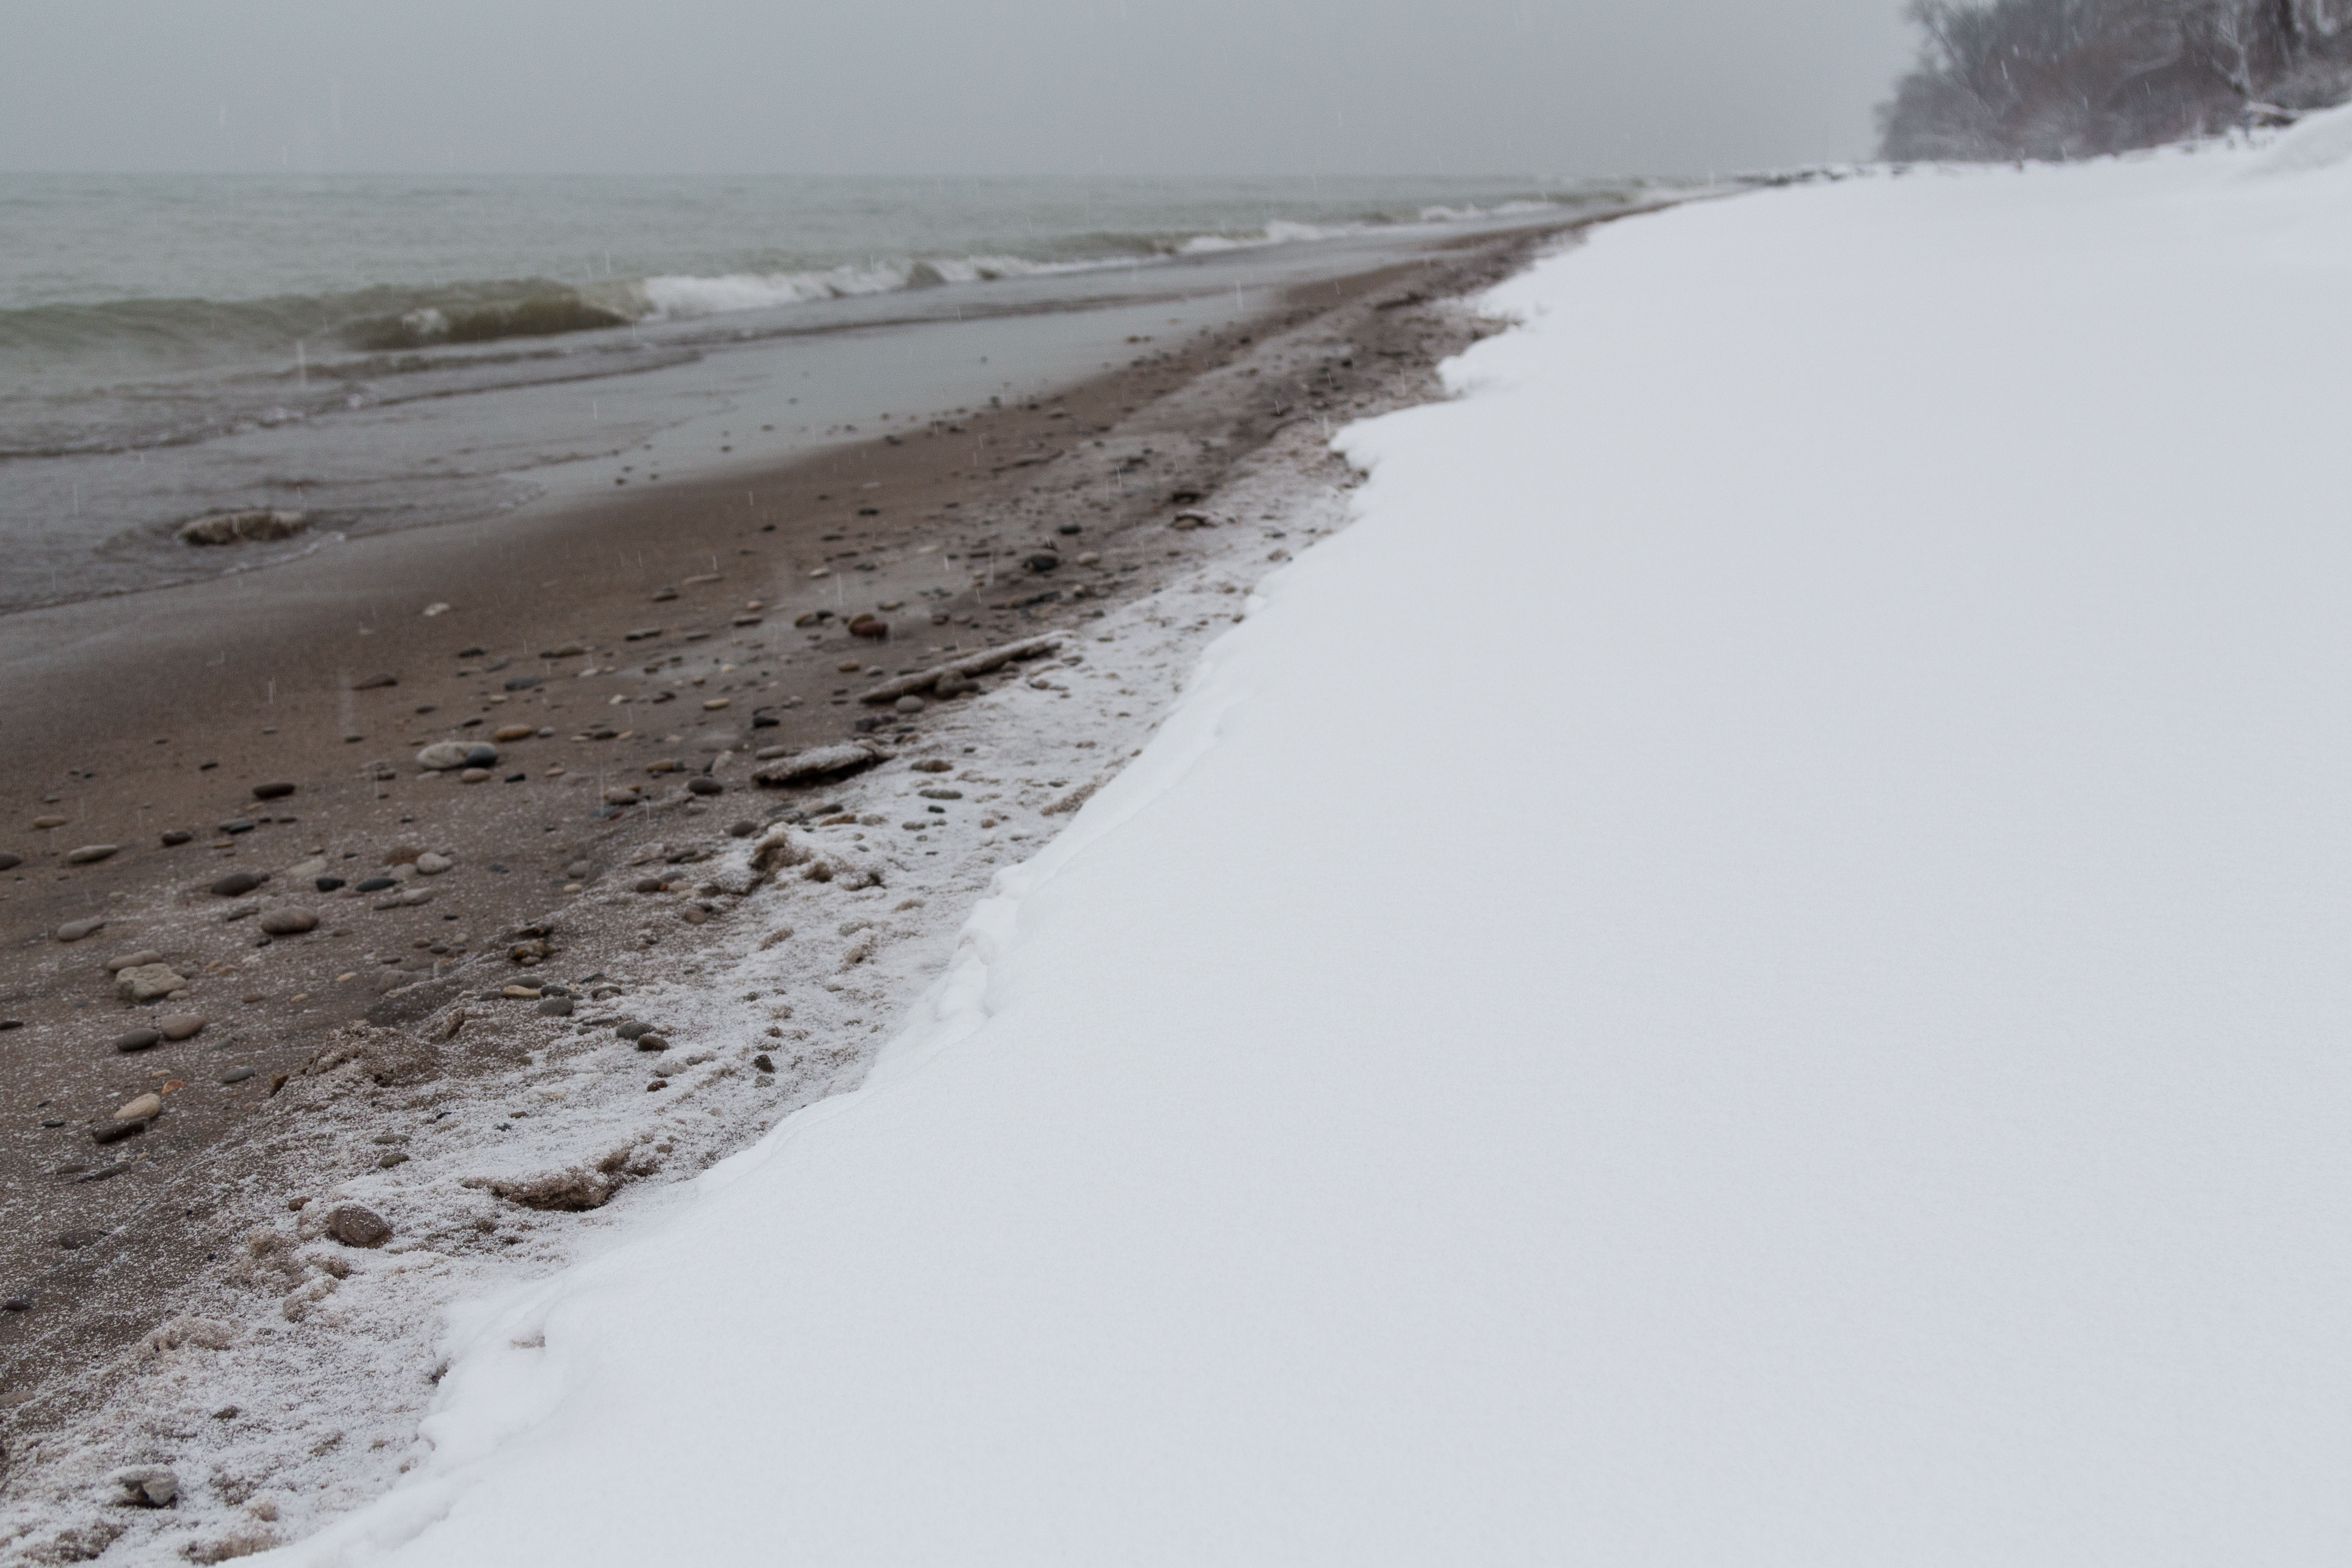
<path fill-rule="evenodd" d="M 936 1018 L 282 1561 L 2345 1561 L 2307 141 L 1501 289 Z"/>

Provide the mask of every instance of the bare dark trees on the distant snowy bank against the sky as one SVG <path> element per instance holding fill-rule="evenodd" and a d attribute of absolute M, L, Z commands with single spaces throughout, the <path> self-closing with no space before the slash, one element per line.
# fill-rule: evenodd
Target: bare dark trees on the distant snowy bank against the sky
<path fill-rule="evenodd" d="M 2352 96 L 2352 0 L 1915 0 L 1879 155 L 2091 158 Z"/>

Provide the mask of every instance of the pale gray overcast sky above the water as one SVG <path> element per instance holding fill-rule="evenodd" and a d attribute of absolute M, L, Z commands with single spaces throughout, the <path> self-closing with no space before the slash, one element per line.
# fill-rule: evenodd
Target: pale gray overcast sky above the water
<path fill-rule="evenodd" d="M 1604 174 L 1858 158 L 1900 0 L 31 0 L 7 169 Z"/>

